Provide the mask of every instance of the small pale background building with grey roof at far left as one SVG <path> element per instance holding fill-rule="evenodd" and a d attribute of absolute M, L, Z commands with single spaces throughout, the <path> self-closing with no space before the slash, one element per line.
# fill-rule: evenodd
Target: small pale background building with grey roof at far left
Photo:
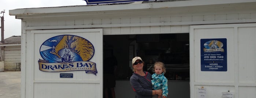
<path fill-rule="evenodd" d="M 21 63 L 21 36 L 12 36 L 0 43 L 1 62 L 4 63 L 4 71 L 20 71 Z M 17 69 L 16 69 L 17 68 Z"/>

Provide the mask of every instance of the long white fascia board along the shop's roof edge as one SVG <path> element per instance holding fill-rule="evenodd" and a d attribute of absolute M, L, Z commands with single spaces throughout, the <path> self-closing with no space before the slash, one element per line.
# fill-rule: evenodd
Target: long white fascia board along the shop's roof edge
<path fill-rule="evenodd" d="M 255 0 L 185 0 L 157 3 L 130 3 L 116 5 L 77 5 L 63 7 L 44 7 L 44 8 L 23 8 L 9 10 L 9 15 L 38 15 L 51 13 L 69 13 L 69 12 L 89 12 L 89 11 L 112 11 L 112 10 L 137 10 L 152 8 L 170 8 L 170 7 L 188 7 L 198 5 L 214 5 L 214 4 L 231 4 L 231 3 L 248 3 Z"/>

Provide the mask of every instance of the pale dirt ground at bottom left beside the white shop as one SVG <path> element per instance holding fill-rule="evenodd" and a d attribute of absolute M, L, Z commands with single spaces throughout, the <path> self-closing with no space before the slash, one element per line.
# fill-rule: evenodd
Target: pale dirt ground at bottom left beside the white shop
<path fill-rule="evenodd" d="M 0 98 L 21 98 L 21 71 L 0 72 Z"/>

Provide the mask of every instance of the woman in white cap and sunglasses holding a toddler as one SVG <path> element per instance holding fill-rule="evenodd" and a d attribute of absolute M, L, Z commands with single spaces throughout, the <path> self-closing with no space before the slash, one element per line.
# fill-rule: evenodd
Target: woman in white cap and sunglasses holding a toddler
<path fill-rule="evenodd" d="M 132 60 L 133 75 L 130 78 L 136 98 L 152 98 L 152 95 L 162 95 L 162 90 L 152 90 L 151 74 L 143 71 L 144 63 L 141 57 L 134 57 Z"/>

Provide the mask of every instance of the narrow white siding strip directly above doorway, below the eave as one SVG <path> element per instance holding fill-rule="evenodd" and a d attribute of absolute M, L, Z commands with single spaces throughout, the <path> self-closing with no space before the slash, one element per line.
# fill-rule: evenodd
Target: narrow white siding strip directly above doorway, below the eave
<path fill-rule="evenodd" d="M 111 18 L 111 19 L 38 19 L 27 21 L 27 29 L 72 29 L 72 28 L 103 28 L 104 35 L 114 34 L 159 34 L 188 33 L 193 24 L 222 24 L 256 22 L 256 12 L 236 14 L 205 14 L 165 16 L 149 18 Z M 41 25 L 41 26 L 40 26 Z M 39 27 L 40 26 L 40 27 Z M 57 26 L 57 27 L 56 27 Z"/>

